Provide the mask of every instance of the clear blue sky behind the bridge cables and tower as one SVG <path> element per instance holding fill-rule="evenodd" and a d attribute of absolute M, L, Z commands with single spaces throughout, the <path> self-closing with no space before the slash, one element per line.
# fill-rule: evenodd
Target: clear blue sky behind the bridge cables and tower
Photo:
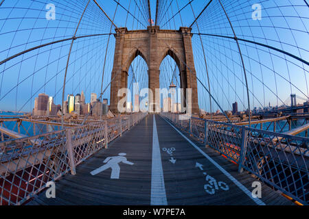
<path fill-rule="evenodd" d="M 128 15 L 121 6 L 117 6 L 115 1 L 98 0 L 98 3 L 111 19 L 115 19 L 117 27 L 126 25 L 128 29 L 144 29 L 148 25 L 145 21 L 146 8 L 139 4 L 138 9 L 135 1 L 137 0 L 120 0 L 119 3 L 126 9 L 129 9 L 130 5 L 131 14 L 134 14 L 141 23 L 133 19 L 130 14 Z M 181 26 L 189 26 L 194 21 L 194 15 L 198 16 L 208 3 L 208 1 L 194 0 L 192 1 L 194 14 L 188 5 L 180 14 L 170 19 L 172 14 L 188 2 L 172 1 L 170 8 L 166 10 L 166 5 L 170 1 L 165 1 L 166 4 L 161 5 L 161 8 L 165 7 L 165 10 L 162 10 L 159 16 L 161 29 L 179 29 Z M 238 38 L 271 45 L 308 62 L 309 8 L 303 0 L 221 0 L 221 2 Z M 56 5 L 55 21 L 48 21 L 45 18 L 47 3 Z M 152 19 L 155 20 L 156 1 L 150 1 L 150 3 Z M 254 3 L 260 3 L 262 6 L 262 20 L 260 21 L 253 21 L 251 17 L 253 13 L 251 7 Z M 86 0 L 4 1 L 0 7 L 0 61 L 40 44 L 71 38 L 86 4 Z M 91 1 L 76 36 L 108 34 L 111 29 L 114 32 L 114 27 L 111 28 L 111 23 L 106 16 Z M 233 36 L 218 0 L 211 2 L 209 8 L 192 26 L 192 32 Z M 201 36 L 200 39 L 198 35 L 193 36 L 192 47 L 196 74 L 208 88 L 201 43 L 203 43 L 207 61 L 211 94 L 225 110 L 231 110 L 231 103 L 234 101 L 238 101 L 240 110 L 246 109 L 248 103 L 244 72 L 235 40 L 214 36 Z M 0 109 L 30 111 L 34 107 L 34 98 L 41 92 L 54 96 L 56 103 L 60 104 L 70 45 L 71 40 L 60 42 L 36 49 L 2 64 L 0 66 Z M 89 101 L 91 92 L 100 93 L 101 87 L 104 90 L 111 81 L 114 48 L 115 38 L 113 36 L 93 36 L 76 40 L 73 43 L 67 72 L 65 96 L 78 94 L 84 90 L 87 101 Z M 306 99 L 309 80 L 309 68 L 306 64 L 288 55 L 248 42 L 240 42 L 240 49 L 247 72 L 251 108 L 266 106 L 269 102 L 271 105 L 277 105 L 277 103 L 282 105 L 282 101 L 286 101 L 291 92 Z M 164 62 L 173 66 L 172 59 Z M 145 65 L 135 60 L 133 66 L 136 67 L 138 63 L 141 66 Z M 165 80 L 170 79 L 174 71 L 168 67 L 170 64 L 161 65 L 163 68 L 161 71 L 167 75 L 166 77 L 160 75 L 160 77 Z M 144 86 L 147 84 L 145 69 L 147 66 L 139 67 L 136 73 L 139 75 L 138 80 Z M 102 77 L 103 72 L 104 77 Z M 132 79 L 132 74 L 129 74 L 128 83 L 130 79 Z M 161 81 L 161 83 L 162 86 L 168 84 L 167 81 Z M 200 107 L 209 111 L 209 95 L 200 83 L 198 83 L 198 91 Z M 103 97 L 109 99 L 109 95 L 108 88 Z M 299 99 L 299 102 L 302 99 Z M 214 105 L 212 110 L 217 109 L 218 106 Z"/>

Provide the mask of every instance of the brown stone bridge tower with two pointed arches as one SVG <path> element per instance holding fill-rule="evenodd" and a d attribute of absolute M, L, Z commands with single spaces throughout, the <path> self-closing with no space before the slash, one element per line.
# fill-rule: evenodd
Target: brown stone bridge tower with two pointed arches
<path fill-rule="evenodd" d="M 118 90 L 128 87 L 128 69 L 137 55 L 141 55 L 148 64 L 148 86 L 154 94 L 154 100 L 149 100 L 149 105 L 154 109 L 155 104 L 160 105 L 155 103 L 155 89 L 160 88 L 159 68 L 163 59 L 170 55 L 179 68 L 181 88 L 184 88 L 184 91 L 185 88 L 192 88 L 192 113 L 199 112 L 191 28 L 181 27 L 177 31 L 152 26 L 145 30 L 128 31 L 123 27 L 116 29 L 115 38 L 115 57 L 111 74 L 112 112 L 118 114 L 117 104 L 122 99 L 117 96 Z"/>

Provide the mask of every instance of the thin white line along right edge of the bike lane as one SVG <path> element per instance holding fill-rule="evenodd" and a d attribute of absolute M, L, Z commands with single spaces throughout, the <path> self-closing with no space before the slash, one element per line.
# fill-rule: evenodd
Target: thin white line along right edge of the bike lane
<path fill-rule="evenodd" d="M 161 118 L 163 118 L 163 117 L 161 117 Z M 163 118 L 163 119 L 165 120 L 165 118 Z M 166 121 L 166 123 L 170 124 L 170 126 L 172 126 L 181 136 L 183 136 L 183 138 L 185 138 L 185 140 L 187 140 L 187 142 L 192 144 L 192 146 L 194 146 L 194 148 L 196 150 L 198 150 L 202 155 L 204 155 L 209 160 L 209 162 L 214 164 L 214 166 L 216 166 L 216 168 L 218 168 L 225 176 L 227 176 L 229 179 L 231 179 L 231 181 L 233 181 L 233 183 L 235 183 L 235 185 L 237 185 L 238 188 L 240 188 L 240 190 L 242 190 L 242 192 L 247 194 L 247 196 L 249 196 L 249 198 L 251 198 L 258 205 L 265 205 L 265 203 L 262 200 L 260 200 L 260 198 L 253 198 L 252 193 L 246 187 L 244 187 L 244 185 L 242 185 L 242 183 L 240 183 L 237 179 L 235 179 L 232 175 L 230 175 L 229 172 L 227 172 L 227 170 L 222 168 L 222 166 L 220 166 L 217 162 L 215 162 L 214 159 L 209 157 L 209 155 L 204 153 L 204 151 L 202 151 L 198 146 L 196 146 L 196 144 L 194 144 L 189 138 L 185 137 L 183 135 L 183 133 L 181 133 L 181 131 L 179 131 L 176 127 L 174 127 L 174 125 L 172 125 L 168 120 L 165 120 L 165 121 Z"/>

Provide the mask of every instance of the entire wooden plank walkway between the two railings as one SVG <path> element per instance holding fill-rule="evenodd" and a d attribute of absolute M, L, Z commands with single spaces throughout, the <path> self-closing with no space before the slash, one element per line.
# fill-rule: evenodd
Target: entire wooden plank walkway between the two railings
<path fill-rule="evenodd" d="M 115 157 L 119 153 L 126 155 Z M 93 172 L 103 165 L 114 172 L 108 166 Z M 253 198 L 254 181 L 213 149 L 150 114 L 77 166 L 76 175 L 56 181 L 56 198 L 46 198 L 43 191 L 27 205 L 293 205 L 264 183 L 262 198 Z"/>

